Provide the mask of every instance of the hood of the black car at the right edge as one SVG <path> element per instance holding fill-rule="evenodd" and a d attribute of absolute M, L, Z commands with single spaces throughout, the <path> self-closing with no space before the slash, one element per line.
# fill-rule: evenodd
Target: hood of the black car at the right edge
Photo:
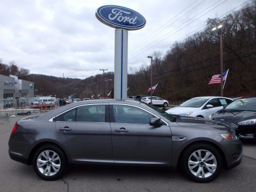
<path fill-rule="evenodd" d="M 212 119 L 216 121 L 240 122 L 246 119 L 256 118 L 255 111 L 222 109 L 213 114 Z"/>

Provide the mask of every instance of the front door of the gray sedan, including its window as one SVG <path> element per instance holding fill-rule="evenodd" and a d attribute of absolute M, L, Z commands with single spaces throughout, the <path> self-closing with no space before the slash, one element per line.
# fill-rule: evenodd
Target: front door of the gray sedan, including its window
<path fill-rule="evenodd" d="M 115 163 L 169 164 L 172 134 L 169 125 L 150 126 L 149 111 L 131 105 L 110 105 Z"/>

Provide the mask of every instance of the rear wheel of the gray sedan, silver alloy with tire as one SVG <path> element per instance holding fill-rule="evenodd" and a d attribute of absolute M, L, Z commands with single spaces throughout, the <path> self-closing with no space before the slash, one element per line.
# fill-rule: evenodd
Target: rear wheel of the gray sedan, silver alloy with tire
<path fill-rule="evenodd" d="M 42 179 L 56 180 L 67 170 L 67 159 L 58 147 L 46 145 L 37 150 L 33 166 Z"/>

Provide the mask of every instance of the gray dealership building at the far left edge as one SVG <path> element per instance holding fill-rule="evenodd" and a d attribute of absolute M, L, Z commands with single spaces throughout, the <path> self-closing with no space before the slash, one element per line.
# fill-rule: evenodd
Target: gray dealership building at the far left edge
<path fill-rule="evenodd" d="M 33 102 L 33 82 L 13 75 L 0 75 L 0 82 L 0 109 L 22 107 Z"/>

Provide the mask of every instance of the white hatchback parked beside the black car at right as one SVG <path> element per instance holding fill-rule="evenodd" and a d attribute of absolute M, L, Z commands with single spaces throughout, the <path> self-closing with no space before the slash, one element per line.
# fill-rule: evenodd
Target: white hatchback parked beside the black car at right
<path fill-rule="evenodd" d="M 165 112 L 209 119 L 210 115 L 221 110 L 223 106 L 231 102 L 233 102 L 233 99 L 225 97 L 196 97 L 181 103 L 180 106 L 168 109 Z"/>

